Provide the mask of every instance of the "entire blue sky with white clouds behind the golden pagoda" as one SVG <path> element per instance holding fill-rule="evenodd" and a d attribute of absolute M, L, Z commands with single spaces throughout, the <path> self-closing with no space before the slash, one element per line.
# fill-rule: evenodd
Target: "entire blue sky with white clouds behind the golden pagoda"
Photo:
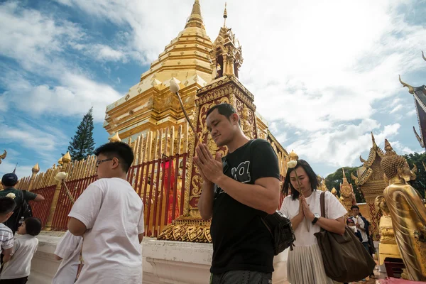
<path fill-rule="evenodd" d="M 214 40 L 224 5 L 201 0 Z M 192 0 L 0 1 L 0 175 L 45 170 L 94 108 L 124 96 L 184 28 Z M 243 46 L 240 80 L 288 150 L 327 175 L 368 156 L 370 132 L 398 153 L 422 151 L 413 97 L 426 84 L 426 1 L 228 1 Z"/>

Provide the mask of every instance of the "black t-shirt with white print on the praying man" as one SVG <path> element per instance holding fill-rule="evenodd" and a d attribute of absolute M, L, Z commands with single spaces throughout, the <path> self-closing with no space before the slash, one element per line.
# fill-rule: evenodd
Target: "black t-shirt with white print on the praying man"
<path fill-rule="evenodd" d="M 251 140 L 223 160 L 224 173 L 239 182 L 253 185 L 258 178 L 280 178 L 278 158 L 266 140 Z M 266 214 L 234 200 L 214 185 L 211 273 L 273 271 L 273 239 L 261 221 Z"/>

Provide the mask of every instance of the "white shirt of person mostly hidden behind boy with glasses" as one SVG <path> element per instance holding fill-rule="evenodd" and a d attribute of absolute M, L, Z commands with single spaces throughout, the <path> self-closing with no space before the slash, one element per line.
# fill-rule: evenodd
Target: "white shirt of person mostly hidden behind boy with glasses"
<path fill-rule="evenodd" d="M 83 237 L 74 236 L 66 231 L 56 245 L 55 255 L 62 258 L 58 271 L 53 277 L 52 284 L 72 284 L 77 276 L 82 250 Z"/>

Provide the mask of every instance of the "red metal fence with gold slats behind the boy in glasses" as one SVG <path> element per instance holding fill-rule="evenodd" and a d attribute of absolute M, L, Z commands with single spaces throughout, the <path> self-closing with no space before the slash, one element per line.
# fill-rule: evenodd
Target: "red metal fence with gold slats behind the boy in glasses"
<path fill-rule="evenodd" d="M 187 153 L 133 165 L 129 169 L 127 180 L 141 197 L 144 204 L 145 234 L 158 236 L 164 226 L 183 214 L 185 196 Z M 97 179 L 96 175 L 66 182 L 72 197 L 77 200 L 86 187 Z M 31 202 L 33 214 L 46 224 L 53 201 L 56 185 L 34 190 L 45 197 L 44 202 Z M 53 216 L 52 230 L 67 229 L 68 214 L 72 202 L 62 184 L 58 204 Z"/>

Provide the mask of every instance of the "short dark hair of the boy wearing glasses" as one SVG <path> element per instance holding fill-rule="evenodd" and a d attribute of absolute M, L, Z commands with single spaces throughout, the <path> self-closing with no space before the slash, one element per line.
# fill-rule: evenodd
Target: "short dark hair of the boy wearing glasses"
<path fill-rule="evenodd" d="M 106 143 L 94 151 L 94 155 L 103 154 L 107 158 L 117 158 L 120 161 L 121 168 L 127 173 L 133 163 L 133 151 L 130 146 L 123 142 Z"/>

